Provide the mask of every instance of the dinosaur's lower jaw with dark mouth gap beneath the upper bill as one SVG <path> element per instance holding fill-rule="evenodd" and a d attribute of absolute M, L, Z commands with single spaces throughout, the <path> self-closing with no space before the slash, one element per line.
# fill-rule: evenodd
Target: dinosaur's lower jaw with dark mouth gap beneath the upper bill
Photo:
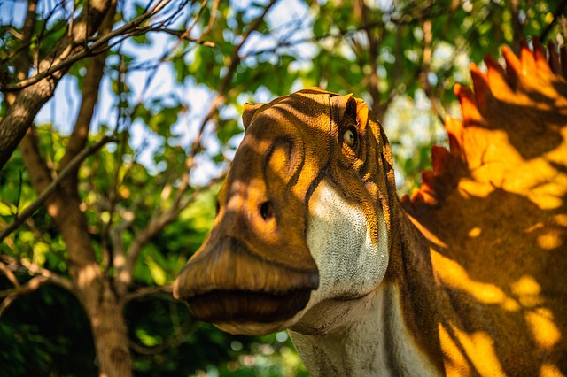
<path fill-rule="evenodd" d="M 305 308 L 310 296 L 310 289 L 285 294 L 214 290 L 185 301 L 198 319 L 229 333 L 260 335 L 280 329 Z"/>

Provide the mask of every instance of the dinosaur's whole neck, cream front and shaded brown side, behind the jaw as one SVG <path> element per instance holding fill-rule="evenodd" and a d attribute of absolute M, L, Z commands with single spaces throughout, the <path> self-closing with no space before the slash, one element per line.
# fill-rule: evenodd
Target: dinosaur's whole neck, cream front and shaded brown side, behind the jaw
<path fill-rule="evenodd" d="M 333 306 L 346 312 L 344 325 L 316 335 L 290 331 L 313 375 L 438 375 L 442 370 L 434 304 L 429 288 L 420 284 L 433 281 L 424 276 L 431 274 L 427 244 L 404 212 L 393 219 L 400 229 L 395 234 L 403 236 L 392 242 L 384 282 L 361 299 L 326 305 L 327 314 Z"/>

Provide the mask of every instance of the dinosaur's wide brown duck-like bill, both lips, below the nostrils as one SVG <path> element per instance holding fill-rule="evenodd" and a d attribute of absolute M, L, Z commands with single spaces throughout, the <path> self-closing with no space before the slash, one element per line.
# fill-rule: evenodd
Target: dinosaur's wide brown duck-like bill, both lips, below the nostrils
<path fill-rule="evenodd" d="M 316 270 L 268 262 L 244 242 L 224 237 L 190 259 L 175 280 L 174 296 L 206 322 L 275 324 L 305 308 L 318 286 Z M 235 326 L 233 332 L 240 331 Z"/>

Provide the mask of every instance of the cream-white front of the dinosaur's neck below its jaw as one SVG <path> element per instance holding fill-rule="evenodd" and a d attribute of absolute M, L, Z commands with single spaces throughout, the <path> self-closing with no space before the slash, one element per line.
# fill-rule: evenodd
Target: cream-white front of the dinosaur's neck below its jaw
<path fill-rule="evenodd" d="M 357 300 L 348 325 L 323 335 L 290 330 L 299 355 L 314 376 L 438 375 L 408 333 L 400 289 L 390 282 Z"/>

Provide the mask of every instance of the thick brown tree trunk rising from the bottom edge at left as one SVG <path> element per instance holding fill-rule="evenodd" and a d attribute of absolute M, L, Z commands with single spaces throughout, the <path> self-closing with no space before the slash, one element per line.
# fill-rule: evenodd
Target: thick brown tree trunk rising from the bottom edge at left
<path fill-rule="evenodd" d="M 37 191 L 49 184 L 50 173 L 37 150 L 31 129 L 20 143 L 22 158 Z M 100 268 L 90 241 L 87 219 L 80 209 L 78 196 L 65 190 L 55 192 L 46 208 L 66 242 L 69 272 L 76 296 L 89 316 L 97 350 L 99 375 L 132 375 L 128 332 L 122 314 L 121 299 Z"/>

